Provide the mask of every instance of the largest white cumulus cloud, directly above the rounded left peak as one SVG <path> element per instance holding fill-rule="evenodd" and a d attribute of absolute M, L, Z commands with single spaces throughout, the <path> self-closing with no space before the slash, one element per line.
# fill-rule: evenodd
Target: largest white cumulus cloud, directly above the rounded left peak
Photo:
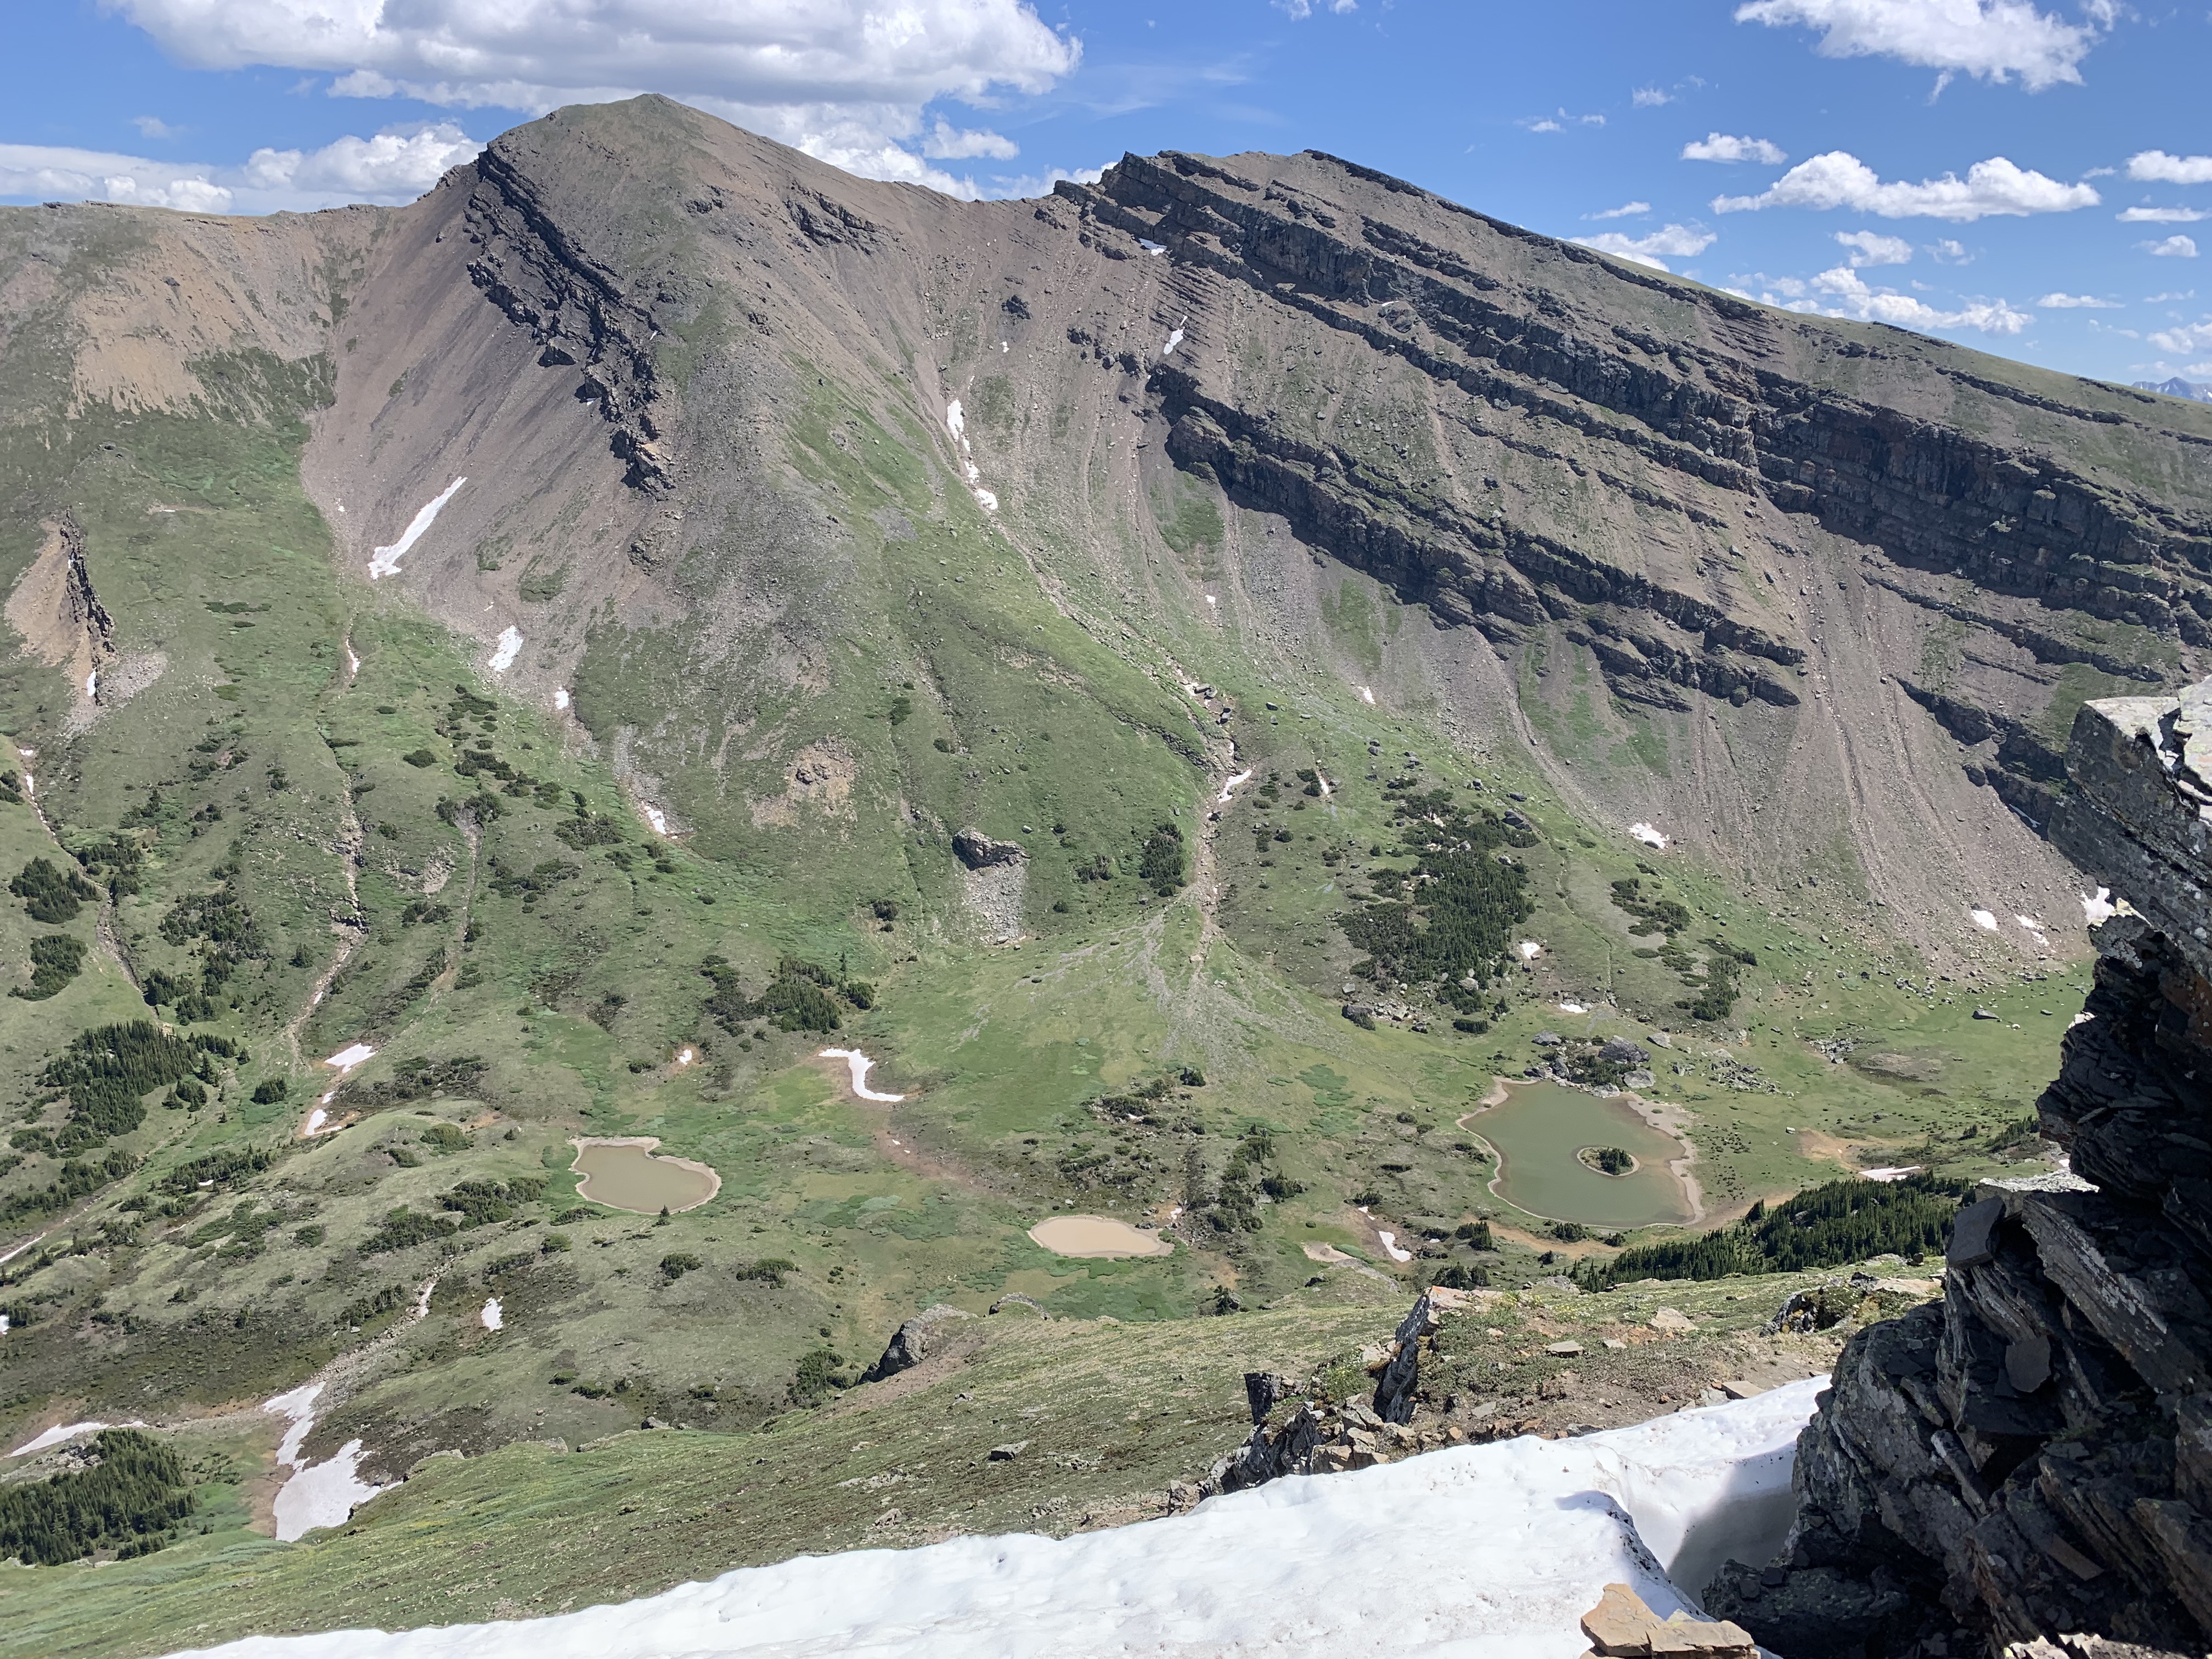
<path fill-rule="evenodd" d="M 953 195 L 980 192 L 911 148 L 925 137 L 925 108 L 1044 93 L 1082 58 L 1082 42 L 1046 27 L 1029 0 L 111 0 L 111 9 L 199 69 L 303 69 L 332 75 L 330 91 L 343 97 L 529 113 L 657 91 L 849 173 Z"/>

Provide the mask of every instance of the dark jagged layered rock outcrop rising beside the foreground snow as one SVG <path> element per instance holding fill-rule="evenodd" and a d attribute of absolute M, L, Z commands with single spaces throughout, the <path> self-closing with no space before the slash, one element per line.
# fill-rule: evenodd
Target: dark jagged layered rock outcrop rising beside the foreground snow
<path fill-rule="evenodd" d="M 2124 900 L 2039 1102 L 2073 1168 L 1984 1183 L 1942 1303 L 1845 1349 L 1790 1544 L 1708 1593 L 1790 1659 L 2212 1641 L 2212 681 L 2086 706 L 2068 770 Z"/>

